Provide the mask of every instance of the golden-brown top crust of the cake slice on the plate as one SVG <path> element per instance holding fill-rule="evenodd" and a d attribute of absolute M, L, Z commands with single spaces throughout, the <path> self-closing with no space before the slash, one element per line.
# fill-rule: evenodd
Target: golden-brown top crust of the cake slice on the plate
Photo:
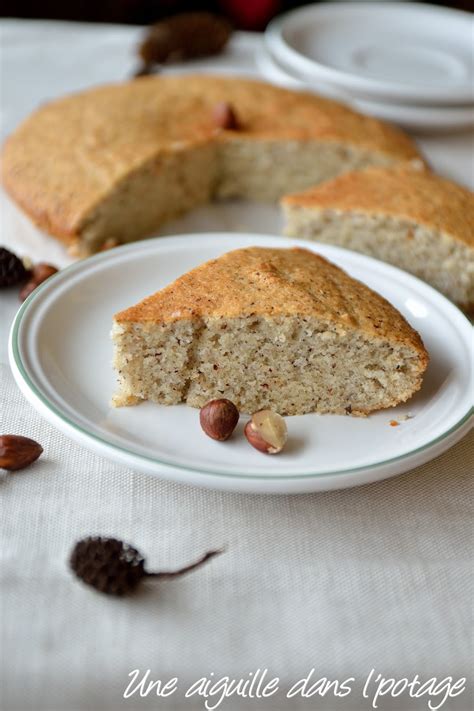
<path fill-rule="evenodd" d="M 136 306 L 117 323 L 166 323 L 182 319 L 245 316 L 315 317 L 341 330 L 405 343 L 425 363 L 419 334 L 379 294 L 339 267 L 299 247 L 248 247 L 196 267 Z"/>

